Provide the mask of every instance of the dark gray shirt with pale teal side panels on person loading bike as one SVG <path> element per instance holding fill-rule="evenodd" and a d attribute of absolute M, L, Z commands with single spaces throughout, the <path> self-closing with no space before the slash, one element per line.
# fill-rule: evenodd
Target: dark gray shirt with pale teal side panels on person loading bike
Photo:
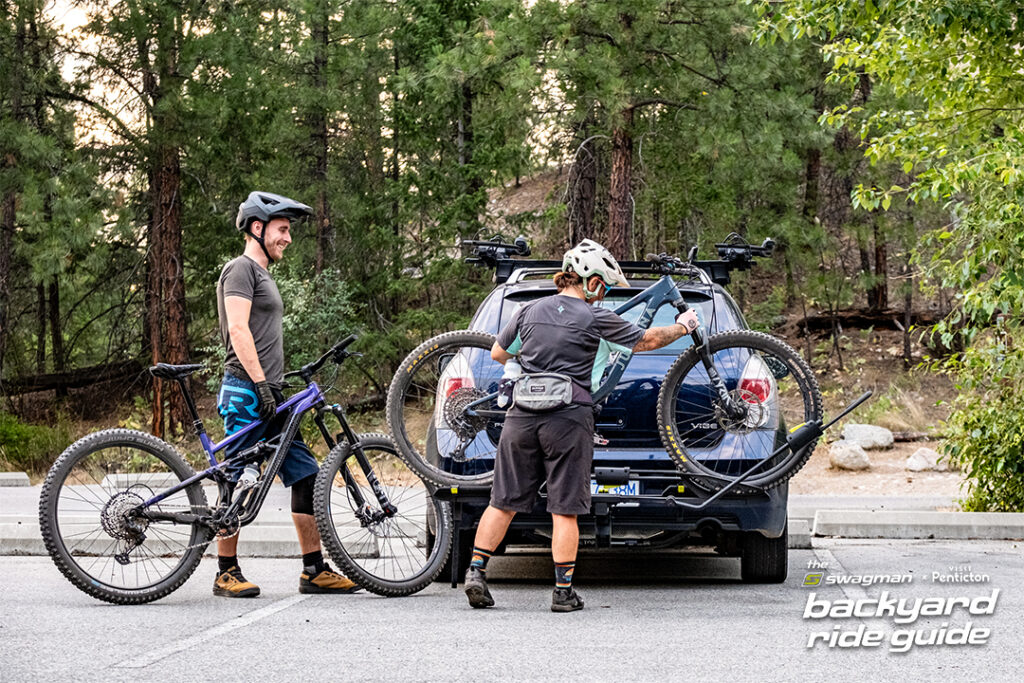
<path fill-rule="evenodd" d="M 592 402 L 590 392 L 614 351 L 630 351 L 643 330 L 614 312 L 570 296 L 547 296 L 519 308 L 498 335 L 498 345 L 519 356 L 525 373 L 561 373 L 581 391 L 577 402 Z"/>

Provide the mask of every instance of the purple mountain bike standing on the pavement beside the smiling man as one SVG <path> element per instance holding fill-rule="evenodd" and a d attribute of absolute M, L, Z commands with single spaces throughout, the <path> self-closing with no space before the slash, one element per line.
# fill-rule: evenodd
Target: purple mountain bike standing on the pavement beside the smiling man
<path fill-rule="evenodd" d="M 388 596 L 415 593 L 440 571 L 452 544 L 452 513 L 434 487 L 411 471 L 383 434 L 355 434 L 340 405 L 328 404 L 312 380 L 328 359 L 350 356 L 350 336 L 286 378 L 305 388 L 278 408 L 278 436 L 225 461 L 216 453 L 255 429 L 256 420 L 213 443 L 188 392 L 202 366 L 159 364 L 155 376 L 178 383 L 209 467 L 196 472 L 171 444 L 143 432 L 109 429 L 79 439 L 50 468 L 39 501 L 39 525 L 50 557 L 75 586 L 100 600 L 138 604 L 180 587 L 214 538 L 229 537 L 259 514 L 307 411 L 330 447 L 313 508 L 325 548 L 344 573 Z M 255 396 L 252 408 L 255 409 Z M 332 436 L 325 417 L 341 431 Z M 255 415 L 254 415 L 255 417 Z M 255 464 L 255 481 L 232 485 L 228 465 Z M 209 505 L 204 483 L 216 486 Z"/>

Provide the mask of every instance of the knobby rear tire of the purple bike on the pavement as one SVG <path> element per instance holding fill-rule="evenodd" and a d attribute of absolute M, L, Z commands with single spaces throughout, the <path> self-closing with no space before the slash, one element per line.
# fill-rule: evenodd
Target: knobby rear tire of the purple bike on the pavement
<path fill-rule="evenodd" d="M 151 434 L 131 429 L 108 429 L 89 434 L 68 446 L 46 475 L 39 498 L 39 528 L 53 563 L 77 588 L 106 602 L 142 604 L 163 598 L 185 583 L 199 566 L 211 533 L 209 529 L 193 524 L 188 542 L 188 546 L 193 547 L 182 554 L 177 566 L 173 567 L 167 577 L 151 586 L 138 589 L 119 588 L 103 583 L 100 578 L 83 569 L 69 552 L 68 544 L 60 533 L 57 514 L 60 490 L 77 464 L 98 451 L 114 447 L 137 450 L 157 458 L 170 468 L 178 481 L 196 474 L 172 445 Z M 208 508 L 206 494 L 201 484 L 189 486 L 185 489 L 185 495 L 194 510 Z"/>

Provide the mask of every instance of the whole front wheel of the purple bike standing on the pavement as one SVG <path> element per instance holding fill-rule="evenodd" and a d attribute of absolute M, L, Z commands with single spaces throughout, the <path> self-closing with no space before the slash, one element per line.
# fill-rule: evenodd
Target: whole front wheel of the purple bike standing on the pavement
<path fill-rule="evenodd" d="M 339 443 L 321 467 L 313 493 L 328 554 L 346 577 L 378 595 L 423 590 L 452 548 L 451 506 L 432 494 L 384 434 Z"/>

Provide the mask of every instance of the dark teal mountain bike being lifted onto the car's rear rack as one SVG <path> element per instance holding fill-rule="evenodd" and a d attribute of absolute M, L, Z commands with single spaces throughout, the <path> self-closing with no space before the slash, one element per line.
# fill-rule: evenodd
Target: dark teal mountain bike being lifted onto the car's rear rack
<path fill-rule="evenodd" d="M 717 247 L 724 258 L 749 267 L 753 257 L 770 255 L 773 243 Z M 646 329 L 663 305 L 685 311 L 676 279 L 712 285 L 695 257 L 695 249 L 686 261 L 648 255 L 651 271 L 660 276 L 615 312 L 633 311 L 636 325 Z M 698 328 L 690 336 L 692 345 L 660 382 L 657 424 L 669 455 L 707 492 L 781 484 L 807 461 L 821 434 L 821 393 L 811 369 L 795 349 L 760 332 L 707 336 Z M 410 467 L 430 481 L 485 485 L 493 478 L 505 418 L 497 403 L 503 368 L 490 358 L 494 342 L 494 335 L 476 331 L 439 335 L 410 353 L 391 382 L 391 433 Z M 616 389 L 631 357 L 628 349 L 612 353 L 593 391 L 596 404 Z"/>

